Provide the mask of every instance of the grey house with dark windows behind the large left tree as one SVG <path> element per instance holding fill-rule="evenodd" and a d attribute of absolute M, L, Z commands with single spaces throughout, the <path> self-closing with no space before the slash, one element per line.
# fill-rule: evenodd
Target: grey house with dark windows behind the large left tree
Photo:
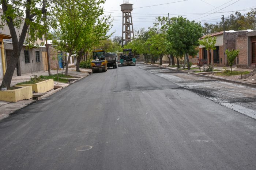
<path fill-rule="evenodd" d="M 2 15 L 3 9 L 0 9 L 0 15 Z M 24 24 L 25 20 L 23 20 Z M 19 35 L 19 33 L 22 31 L 21 28 L 15 28 L 16 34 Z M 7 37 L 2 37 L 1 41 L 1 66 L 0 70 L 3 71 L 3 75 L 0 76 L 0 79 L 3 79 L 4 73 L 6 68 L 8 67 L 8 63 L 12 62 L 10 60 L 10 56 L 12 55 L 12 51 L 15 50 L 12 47 L 12 39 L 10 30 L 7 25 L 4 25 L 4 29 L 0 30 L 0 33 Z M 29 37 L 29 32 L 26 34 L 26 38 Z M 1 39 L 1 38 L 0 38 Z M 40 44 L 44 42 L 43 38 L 37 39 L 37 44 Z M 14 71 L 14 76 L 20 76 L 23 74 L 29 74 L 29 73 L 35 73 L 35 72 L 41 72 L 46 71 L 47 63 L 45 63 L 46 58 L 46 47 L 45 46 L 38 46 L 35 48 L 28 48 L 26 44 L 23 44 L 22 50 L 20 52 L 19 60 L 17 63 L 17 66 Z"/>

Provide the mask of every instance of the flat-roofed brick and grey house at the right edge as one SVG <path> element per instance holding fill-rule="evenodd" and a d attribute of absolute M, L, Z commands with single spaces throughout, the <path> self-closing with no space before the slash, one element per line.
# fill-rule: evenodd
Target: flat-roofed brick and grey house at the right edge
<path fill-rule="evenodd" d="M 255 67 L 255 31 L 242 30 L 242 31 L 221 31 L 217 33 L 209 34 L 216 37 L 215 50 L 211 50 L 211 58 L 209 51 L 204 46 L 199 46 L 199 59 L 204 59 L 207 64 L 213 64 L 215 66 L 227 66 L 227 56 L 225 51 L 228 50 L 240 50 L 238 57 L 234 64 L 237 67 Z M 204 35 L 200 39 L 203 39 L 207 35 Z M 254 41 L 253 41 L 254 40 Z M 254 62 L 254 63 L 253 63 Z"/>

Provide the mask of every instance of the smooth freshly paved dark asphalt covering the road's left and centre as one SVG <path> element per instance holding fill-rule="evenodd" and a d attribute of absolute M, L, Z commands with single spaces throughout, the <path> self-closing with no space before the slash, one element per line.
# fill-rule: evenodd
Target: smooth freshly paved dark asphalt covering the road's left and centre
<path fill-rule="evenodd" d="M 256 120 L 119 67 L 1 120 L 0 169 L 256 169 Z"/>

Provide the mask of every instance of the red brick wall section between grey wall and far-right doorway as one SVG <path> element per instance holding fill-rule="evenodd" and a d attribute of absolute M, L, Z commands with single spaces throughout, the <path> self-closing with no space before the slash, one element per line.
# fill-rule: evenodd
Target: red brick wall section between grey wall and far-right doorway
<path fill-rule="evenodd" d="M 237 67 L 247 67 L 248 66 L 248 42 L 247 36 L 240 36 L 236 38 L 236 50 L 240 50 L 238 54 L 239 63 Z"/>

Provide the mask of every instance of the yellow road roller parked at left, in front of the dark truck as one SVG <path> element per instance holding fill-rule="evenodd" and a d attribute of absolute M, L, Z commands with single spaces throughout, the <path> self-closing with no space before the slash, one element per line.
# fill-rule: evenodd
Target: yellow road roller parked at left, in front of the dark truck
<path fill-rule="evenodd" d="M 91 69 L 93 72 L 106 72 L 108 61 L 105 59 L 105 50 L 97 49 L 93 51 L 93 60 L 91 61 Z"/>

